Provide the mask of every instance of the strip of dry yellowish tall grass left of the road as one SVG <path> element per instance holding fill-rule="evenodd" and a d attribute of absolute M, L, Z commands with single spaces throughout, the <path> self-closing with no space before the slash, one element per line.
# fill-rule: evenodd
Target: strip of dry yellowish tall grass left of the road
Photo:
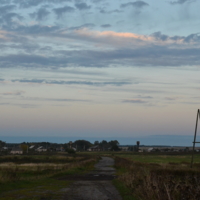
<path fill-rule="evenodd" d="M 19 158 L 20 159 L 20 158 Z M 60 158 L 56 158 L 59 160 Z M 55 160 L 55 159 L 54 159 Z M 19 181 L 19 180 L 35 180 L 43 177 L 49 177 L 73 168 L 90 167 L 96 158 L 74 158 L 73 160 L 65 160 L 65 163 L 3 163 L 0 164 L 0 184 Z M 63 162 L 63 160 L 62 160 Z M 18 162 L 17 162 L 18 163 Z"/>

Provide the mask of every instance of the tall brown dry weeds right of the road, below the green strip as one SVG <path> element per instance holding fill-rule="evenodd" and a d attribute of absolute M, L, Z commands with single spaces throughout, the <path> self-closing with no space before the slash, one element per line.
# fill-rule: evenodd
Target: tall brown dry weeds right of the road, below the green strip
<path fill-rule="evenodd" d="M 116 157 L 118 179 L 141 200 L 199 200 L 200 170 L 187 164 L 148 164 Z"/>

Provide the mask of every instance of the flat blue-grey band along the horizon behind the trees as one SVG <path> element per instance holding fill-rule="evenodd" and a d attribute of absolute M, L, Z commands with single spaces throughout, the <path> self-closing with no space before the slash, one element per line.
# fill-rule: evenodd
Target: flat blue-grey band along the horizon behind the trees
<path fill-rule="evenodd" d="M 118 140 L 120 145 L 135 145 L 140 141 L 141 145 L 169 145 L 169 146 L 192 146 L 193 135 L 149 135 L 141 137 L 25 137 L 25 136 L 0 136 L 0 140 L 6 143 L 22 143 L 22 142 L 51 142 L 51 143 L 68 143 L 75 140 L 87 140 L 93 143 L 94 141 L 110 141 Z M 200 138 L 197 141 L 200 141 Z M 198 145 L 196 145 L 198 146 Z"/>

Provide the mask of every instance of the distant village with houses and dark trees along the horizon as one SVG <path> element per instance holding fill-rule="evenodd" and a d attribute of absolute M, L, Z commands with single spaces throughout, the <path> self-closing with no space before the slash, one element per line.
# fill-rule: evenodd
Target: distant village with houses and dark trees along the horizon
<path fill-rule="evenodd" d="M 82 151 L 132 151 L 132 152 L 190 152 L 192 147 L 185 146 L 146 146 L 140 145 L 137 141 L 135 145 L 120 145 L 117 140 L 107 142 L 95 141 L 93 144 L 86 140 L 76 140 L 64 144 L 49 142 L 32 142 L 32 143 L 6 143 L 0 140 L 1 154 L 39 154 L 41 152 L 82 152 Z M 200 152 L 200 147 L 195 148 L 196 152 Z"/>

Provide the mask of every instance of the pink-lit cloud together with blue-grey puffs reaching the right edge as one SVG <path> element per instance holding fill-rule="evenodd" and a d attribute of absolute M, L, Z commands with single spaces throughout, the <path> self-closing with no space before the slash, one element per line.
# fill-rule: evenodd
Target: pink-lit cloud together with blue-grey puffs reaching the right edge
<path fill-rule="evenodd" d="M 188 36 L 168 36 L 162 34 L 161 32 L 156 32 L 151 35 L 139 35 L 129 32 L 93 31 L 88 30 L 87 28 L 83 28 L 74 30 L 73 32 L 62 31 L 60 32 L 60 36 L 96 42 L 101 45 L 113 45 L 121 48 L 130 48 L 131 46 L 136 48 L 138 46 L 142 47 L 148 45 L 175 45 L 176 48 L 178 48 L 180 45 L 187 45 L 188 47 L 188 44 L 200 44 L 200 34 L 198 33 L 194 33 Z"/>

